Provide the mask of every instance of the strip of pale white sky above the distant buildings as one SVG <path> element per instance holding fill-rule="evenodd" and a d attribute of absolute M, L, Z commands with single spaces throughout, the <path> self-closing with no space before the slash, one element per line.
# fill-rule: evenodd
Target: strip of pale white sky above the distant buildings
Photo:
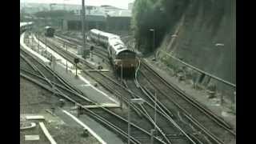
<path fill-rule="evenodd" d="M 128 3 L 135 0 L 85 0 L 86 5 L 101 6 L 110 5 L 122 9 L 128 9 Z M 66 3 L 66 4 L 82 4 L 82 0 L 20 0 L 20 2 L 34 2 L 34 3 Z"/>

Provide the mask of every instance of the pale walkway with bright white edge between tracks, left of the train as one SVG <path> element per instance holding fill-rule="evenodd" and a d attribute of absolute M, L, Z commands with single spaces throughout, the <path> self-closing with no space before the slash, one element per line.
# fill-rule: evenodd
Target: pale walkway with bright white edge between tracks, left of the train
<path fill-rule="evenodd" d="M 39 42 L 34 35 L 33 35 L 33 38 L 35 42 Z M 24 34 L 22 34 L 21 43 L 23 46 L 25 45 Z M 39 42 L 39 45 L 42 46 L 43 48 L 46 48 L 46 51 L 52 54 L 54 58 L 57 58 L 59 60 L 54 65 L 54 71 L 60 76 L 62 76 L 63 78 L 65 78 L 66 81 L 70 82 L 78 90 L 81 90 L 82 93 L 87 96 L 87 98 L 90 98 L 92 101 L 98 102 L 99 104 L 116 104 L 117 106 L 119 105 L 119 102 L 115 100 L 114 97 L 110 97 L 108 94 L 104 93 L 102 90 L 98 90 L 95 86 L 91 85 L 91 83 L 88 80 L 86 80 L 86 78 L 83 78 L 80 70 L 78 70 L 78 78 L 75 78 L 74 77 L 75 70 L 74 70 L 74 65 L 72 63 L 67 62 L 65 58 L 62 58 L 61 55 L 54 52 L 54 50 L 51 50 L 42 42 Z M 28 46 L 26 46 L 26 49 L 30 50 L 32 54 L 42 59 L 43 61 L 48 61 L 46 60 L 46 58 L 43 58 L 40 54 L 30 49 Z M 67 62 L 68 71 L 66 71 L 66 62 Z"/>

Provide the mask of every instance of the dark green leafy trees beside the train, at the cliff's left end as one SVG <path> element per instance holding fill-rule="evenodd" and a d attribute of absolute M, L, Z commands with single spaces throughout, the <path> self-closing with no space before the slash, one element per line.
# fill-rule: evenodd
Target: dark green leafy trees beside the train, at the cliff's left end
<path fill-rule="evenodd" d="M 182 18 L 190 0 L 136 0 L 133 7 L 131 29 L 140 50 L 152 52 L 153 33 L 155 30 L 155 46 L 159 46 L 162 38 L 172 26 Z M 155 48 L 156 48 L 155 47 Z"/>

